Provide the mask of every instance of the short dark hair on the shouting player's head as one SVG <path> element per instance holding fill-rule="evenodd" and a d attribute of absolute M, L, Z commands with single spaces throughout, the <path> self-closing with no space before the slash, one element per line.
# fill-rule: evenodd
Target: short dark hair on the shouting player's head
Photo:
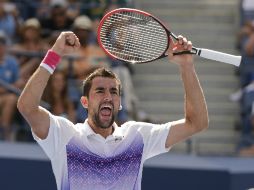
<path fill-rule="evenodd" d="M 92 72 L 84 81 L 83 81 L 83 96 L 89 97 L 89 92 L 92 86 L 93 79 L 96 77 L 106 77 L 115 79 L 119 88 L 119 94 L 121 94 L 122 85 L 118 76 L 113 73 L 111 70 L 106 69 L 104 67 L 96 69 Z"/>

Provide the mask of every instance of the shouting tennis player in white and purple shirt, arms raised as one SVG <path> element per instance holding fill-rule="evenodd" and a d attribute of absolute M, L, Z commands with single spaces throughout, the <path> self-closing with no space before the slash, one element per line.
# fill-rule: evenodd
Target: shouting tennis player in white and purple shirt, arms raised
<path fill-rule="evenodd" d="M 185 118 L 165 124 L 129 121 L 117 126 L 114 121 L 121 109 L 121 83 L 114 73 L 101 68 L 84 81 L 81 103 L 88 110 L 88 118 L 73 124 L 39 106 L 61 57 L 80 46 L 74 33 L 59 35 L 18 100 L 19 111 L 51 160 L 59 190 L 140 190 L 146 159 L 169 151 L 174 144 L 208 127 L 193 57 L 173 56 L 173 52 L 191 50 L 192 44 L 182 36 L 171 44 L 168 57 L 178 65 L 185 89 Z"/>

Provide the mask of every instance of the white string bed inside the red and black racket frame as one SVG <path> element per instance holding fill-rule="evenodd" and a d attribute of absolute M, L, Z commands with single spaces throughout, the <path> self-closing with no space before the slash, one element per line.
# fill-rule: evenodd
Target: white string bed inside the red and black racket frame
<path fill-rule="evenodd" d="M 100 35 L 105 49 L 130 62 L 158 58 L 168 45 L 164 28 L 151 17 L 136 12 L 111 15 L 102 25 Z"/>

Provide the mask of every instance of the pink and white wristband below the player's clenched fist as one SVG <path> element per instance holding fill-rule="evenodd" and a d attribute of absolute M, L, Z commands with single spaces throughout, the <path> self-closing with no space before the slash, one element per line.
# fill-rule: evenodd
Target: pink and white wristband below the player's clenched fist
<path fill-rule="evenodd" d="M 44 59 L 42 60 L 40 66 L 48 70 L 50 74 L 53 74 L 60 60 L 61 57 L 57 53 L 55 53 L 52 50 L 49 50 L 45 55 Z"/>

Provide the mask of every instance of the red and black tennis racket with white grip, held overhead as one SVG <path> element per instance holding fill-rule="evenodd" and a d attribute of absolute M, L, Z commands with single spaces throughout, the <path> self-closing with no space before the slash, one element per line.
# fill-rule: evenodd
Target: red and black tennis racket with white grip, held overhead
<path fill-rule="evenodd" d="M 111 57 L 133 64 L 147 63 L 167 56 L 170 37 L 178 40 L 153 15 L 137 9 L 120 8 L 107 13 L 98 27 L 98 43 Z M 200 57 L 239 66 L 241 56 L 193 47 L 174 53 Z"/>

